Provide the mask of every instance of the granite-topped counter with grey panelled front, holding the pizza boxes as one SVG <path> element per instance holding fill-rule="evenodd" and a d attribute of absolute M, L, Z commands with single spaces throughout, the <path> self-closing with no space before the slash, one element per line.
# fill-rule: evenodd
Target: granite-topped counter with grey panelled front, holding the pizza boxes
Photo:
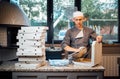
<path fill-rule="evenodd" d="M 45 65 L 34 69 L 15 68 L 16 62 L 4 62 L 0 72 L 12 71 L 12 79 L 103 79 L 104 67 L 83 67 L 68 65 L 54 67 Z"/>

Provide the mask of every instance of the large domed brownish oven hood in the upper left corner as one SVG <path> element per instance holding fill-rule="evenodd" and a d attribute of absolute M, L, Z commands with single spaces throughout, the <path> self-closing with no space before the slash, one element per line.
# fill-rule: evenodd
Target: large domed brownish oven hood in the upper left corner
<path fill-rule="evenodd" d="M 0 24 L 6 25 L 29 25 L 28 17 L 15 3 L 0 2 Z"/>

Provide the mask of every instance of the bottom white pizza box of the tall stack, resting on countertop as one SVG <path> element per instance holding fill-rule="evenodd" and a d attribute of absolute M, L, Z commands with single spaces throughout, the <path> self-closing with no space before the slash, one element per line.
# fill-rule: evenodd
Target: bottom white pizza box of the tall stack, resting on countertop
<path fill-rule="evenodd" d="M 31 62 L 31 63 L 26 63 L 26 62 L 18 62 L 15 63 L 15 68 L 23 68 L 23 69 L 36 69 L 41 66 L 44 66 L 46 64 L 45 61 L 43 62 Z"/>

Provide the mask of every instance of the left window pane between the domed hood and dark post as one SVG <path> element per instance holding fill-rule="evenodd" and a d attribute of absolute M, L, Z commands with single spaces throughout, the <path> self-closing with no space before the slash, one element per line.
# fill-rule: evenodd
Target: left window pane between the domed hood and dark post
<path fill-rule="evenodd" d="M 47 26 L 47 0 L 19 0 L 31 26 Z"/>

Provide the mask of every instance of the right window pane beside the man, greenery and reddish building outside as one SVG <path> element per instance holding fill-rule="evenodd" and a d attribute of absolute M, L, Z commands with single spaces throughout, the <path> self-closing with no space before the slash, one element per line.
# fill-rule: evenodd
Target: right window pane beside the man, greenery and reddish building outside
<path fill-rule="evenodd" d="M 81 11 L 89 15 L 86 26 L 103 36 L 103 42 L 118 42 L 118 0 L 81 0 Z"/>

